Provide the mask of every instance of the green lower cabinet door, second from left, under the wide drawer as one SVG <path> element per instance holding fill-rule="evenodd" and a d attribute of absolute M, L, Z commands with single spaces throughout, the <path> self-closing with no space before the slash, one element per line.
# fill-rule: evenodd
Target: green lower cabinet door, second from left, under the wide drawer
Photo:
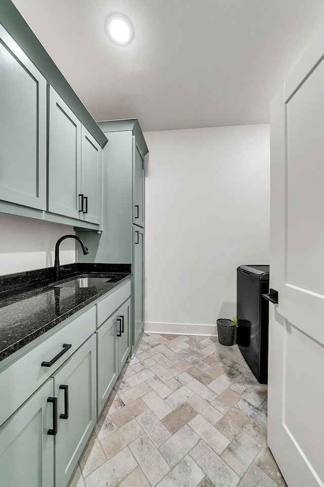
<path fill-rule="evenodd" d="M 93 334 L 54 375 L 58 398 L 55 485 L 65 487 L 96 423 L 96 337 Z"/>

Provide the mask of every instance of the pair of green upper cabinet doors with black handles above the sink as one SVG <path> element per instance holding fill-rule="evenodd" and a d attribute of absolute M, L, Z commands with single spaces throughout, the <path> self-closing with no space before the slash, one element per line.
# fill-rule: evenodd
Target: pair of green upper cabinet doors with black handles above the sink
<path fill-rule="evenodd" d="M 48 210 L 90 223 L 102 221 L 102 149 L 49 87 Z"/>

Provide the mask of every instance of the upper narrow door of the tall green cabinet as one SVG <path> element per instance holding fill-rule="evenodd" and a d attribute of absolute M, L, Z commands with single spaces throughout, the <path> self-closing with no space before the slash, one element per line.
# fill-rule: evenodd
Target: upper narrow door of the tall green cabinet
<path fill-rule="evenodd" d="M 144 160 L 133 136 L 133 223 L 144 227 Z"/>

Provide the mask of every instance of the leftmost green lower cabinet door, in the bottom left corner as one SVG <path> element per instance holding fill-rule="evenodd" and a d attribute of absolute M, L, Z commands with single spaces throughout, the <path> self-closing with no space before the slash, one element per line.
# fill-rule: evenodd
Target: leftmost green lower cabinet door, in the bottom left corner
<path fill-rule="evenodd" d="M 53 379 L 47 380 L 0 428 L 0 484 L 54 487 Z"/>

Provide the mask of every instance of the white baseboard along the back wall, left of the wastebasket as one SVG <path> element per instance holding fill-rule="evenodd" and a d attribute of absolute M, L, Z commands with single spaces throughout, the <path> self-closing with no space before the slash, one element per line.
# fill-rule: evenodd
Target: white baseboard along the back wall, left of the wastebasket
<path fill-rule="evenodd" d="M 144 323 L 145 333 L 166 335 L 217 336 L 217 325 L 193 325 L 192 323 Z"/>

